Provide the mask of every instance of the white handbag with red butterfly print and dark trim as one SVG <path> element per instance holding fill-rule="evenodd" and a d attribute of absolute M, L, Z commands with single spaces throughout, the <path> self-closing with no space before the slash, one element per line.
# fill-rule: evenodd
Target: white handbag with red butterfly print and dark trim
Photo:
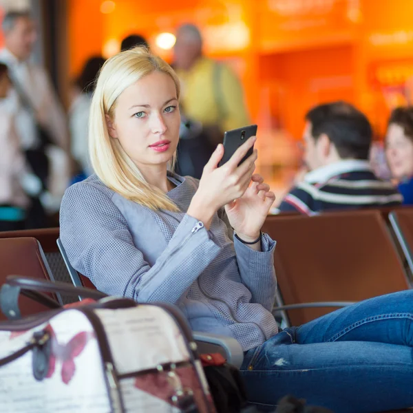
<path fill-rule="evenodd" d="M 61 308 L 49 293 L 100 300 Z M 19 319 L 19 295 L 53 309 Z M 215 413 L 176 307 L 17 276 L 0 303 L 12 319 L 0 323 L 3 412 Z"/>

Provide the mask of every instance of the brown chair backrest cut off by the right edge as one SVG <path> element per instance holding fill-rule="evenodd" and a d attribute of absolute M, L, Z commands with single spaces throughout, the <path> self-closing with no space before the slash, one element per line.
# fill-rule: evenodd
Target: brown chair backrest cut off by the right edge
<path fill-rule="evenodd" d="M 389 218 L 410 272 L 413 273 L 413 209 L 397 209 L 390 213 Z"/>

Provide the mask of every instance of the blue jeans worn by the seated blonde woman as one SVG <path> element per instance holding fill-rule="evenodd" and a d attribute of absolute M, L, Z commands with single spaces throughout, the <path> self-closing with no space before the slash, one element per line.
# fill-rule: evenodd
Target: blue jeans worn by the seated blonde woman
<path fill-rule="evenodd" d="M 286 394 L 335 413 L 413 406 L 413 290 L 374 297 L 248 350 L 248 400 L 274 407 Z"/>

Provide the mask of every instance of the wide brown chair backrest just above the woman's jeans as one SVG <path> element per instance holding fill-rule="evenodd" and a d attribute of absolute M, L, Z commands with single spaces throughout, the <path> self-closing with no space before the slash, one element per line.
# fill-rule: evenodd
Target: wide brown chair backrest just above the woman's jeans
<path fill-rule="evenodd" d="M 268 217 L 264 231 L 277 241 L 275 271 L 284 304 L 360 301 L 410 288 L 379 211 Z M 330 310 L 288 315 L 299 325 Z"/>

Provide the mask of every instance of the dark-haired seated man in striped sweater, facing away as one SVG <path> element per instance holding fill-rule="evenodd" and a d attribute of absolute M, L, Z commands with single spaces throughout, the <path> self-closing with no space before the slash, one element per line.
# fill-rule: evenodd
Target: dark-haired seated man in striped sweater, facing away
<path fill-rule="evenodd" d="M 310 170 L 277 212 L 313 215 L 333 209 L 398 205 L 401 194 L 374 175 L 368 161 L 372 127 L 345 102 L 318 105 L 306 114 L 304 161 Z"/>

